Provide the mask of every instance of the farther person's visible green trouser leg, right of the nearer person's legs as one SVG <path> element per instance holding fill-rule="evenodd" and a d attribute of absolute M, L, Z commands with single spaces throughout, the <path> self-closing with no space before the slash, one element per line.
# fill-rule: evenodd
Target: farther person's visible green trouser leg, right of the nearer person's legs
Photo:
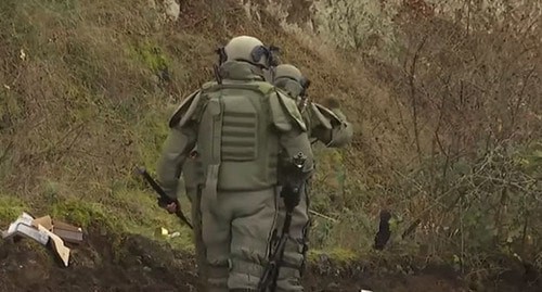
<path fill-rule="evenodd" d="M 309 218 L 309 183 L 305 187 L 299 204 L 292 214 L 289 236 L 284 249 L 284 257 L 279 271 L 276 291 L 304 291 L 301 275 L 305 269 L 306 253 L 308 250 Z M 275 240 L 282 234 L 282 227 L 286 216 L 284 201 L 279 201 Z"/>

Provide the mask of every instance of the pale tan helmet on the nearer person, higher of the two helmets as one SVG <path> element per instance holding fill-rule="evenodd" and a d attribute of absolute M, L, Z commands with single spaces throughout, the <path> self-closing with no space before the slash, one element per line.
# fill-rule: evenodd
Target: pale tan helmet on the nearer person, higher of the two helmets
<path fill-rule="evenodd" d="M 217 50 L 220 64 L 227 61 L 244 61 L 263 68 L 276 66 L 274 53 L 278 52 L 278 47 L 266 47 L 259 39 L 250 36 L 234 37 L 225 47 Z"/>

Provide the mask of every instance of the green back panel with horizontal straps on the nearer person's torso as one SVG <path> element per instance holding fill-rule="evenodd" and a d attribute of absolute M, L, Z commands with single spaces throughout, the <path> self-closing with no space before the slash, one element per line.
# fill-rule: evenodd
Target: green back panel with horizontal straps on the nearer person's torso
<path fill-rule="evenodd" d="M 269 102 L 274 92 L 259 81 L 224 80 L 203 88 L 198 160 L 205 176 L 212 175 L 205 169 L 219 165 L 217 190 L 255 191 L 276 183 L 279 136 Z"/>

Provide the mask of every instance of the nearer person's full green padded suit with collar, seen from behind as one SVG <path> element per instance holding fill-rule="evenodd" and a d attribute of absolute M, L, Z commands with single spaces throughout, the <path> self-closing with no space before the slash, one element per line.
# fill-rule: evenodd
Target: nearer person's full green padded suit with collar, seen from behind
<path fill-rule="evenodd" d="M 208 291 L 253 291 L 271 252 L 279 158 L 302 152 L 309 176 L 313 156 L 295 101 L 263 81 L 261 71 L 227 62 L 220 75 L 221 85 L 204 85 L 171 118 L 157 177 L 175 196 L 197 144 L 197 155 L 189 160 L 194 168 L 184 180 L 186 187 L 188 180 L 197 183 L 195 196 L 189 196 L 201 214 Z"/>

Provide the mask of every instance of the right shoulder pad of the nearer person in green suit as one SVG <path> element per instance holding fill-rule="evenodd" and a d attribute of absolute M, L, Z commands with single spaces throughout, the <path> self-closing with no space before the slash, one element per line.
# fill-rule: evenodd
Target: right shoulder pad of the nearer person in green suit
<path fill-rule="evenodd" d="M 292 122 L 294 120 L 302 131 L 307 131 L 307 126 L 301 117 L 301 113 L 297 109 L 295 100 L 288 98 L 280 91 L 269 97 L 271 105 L 271 113 L 273 116 L 273 124 L 282 131 L 292 129 Z"/>

